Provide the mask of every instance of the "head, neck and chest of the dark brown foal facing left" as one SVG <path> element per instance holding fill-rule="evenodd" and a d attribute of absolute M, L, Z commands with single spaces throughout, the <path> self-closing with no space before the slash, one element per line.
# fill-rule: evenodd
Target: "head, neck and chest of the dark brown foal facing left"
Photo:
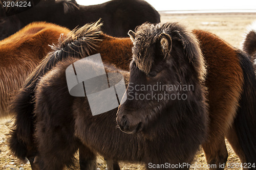
<path fill-rule="evenodd" d="M 119 106 L 117 124 L 123 132 L 138 134 L 151 141 L 154 149 L 148 150 L 155 154 L 148 157 L 155 162 L 191 164 L 199 145 L 206 139 L 208 125 L 206 71 L 198 40 L 177 22 L 144 23 L 130 36 L 134 41 L 131 84 L 126 89 L 127 100 Z M 133 87 L 158 84 L 193 85 L 194 90 L 135 90 Z M 186 94 L 187 100 L 139 100 L 136 93 L 144 96 L 182 93 Z M 158 155 L 163 156 L 159 158 Z"/>

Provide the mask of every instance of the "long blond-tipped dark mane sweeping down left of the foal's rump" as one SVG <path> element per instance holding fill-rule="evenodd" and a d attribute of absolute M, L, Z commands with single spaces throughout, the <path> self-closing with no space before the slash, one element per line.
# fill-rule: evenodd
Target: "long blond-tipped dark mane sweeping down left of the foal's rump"
<path fill-rule="evenodd" d="M 51 70 L 57 62 L 67 57 L 83 58 L 94 53 L 101 34 L 101 26 L 102 23 L 98 20 L 73 30 L 65 37 L 61 35 L 59 43 L 52 46 L 53 51 L 40 62 L 23 88 L 19 90 L 12 103 L 13 112 L 16 115 L 9 138 L 9 147 L 16 157 L 25 159 L 28 147 L 33 146 L 34 143 L 34 95 L 40 77 Z"/>

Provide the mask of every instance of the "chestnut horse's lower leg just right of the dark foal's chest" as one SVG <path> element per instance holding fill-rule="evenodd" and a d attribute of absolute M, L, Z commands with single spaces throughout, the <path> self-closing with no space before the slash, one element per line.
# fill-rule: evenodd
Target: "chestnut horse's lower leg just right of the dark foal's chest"
<path fill-rule="evenodd" d="M 211 136 L 202 147 L 207 163 L 211 165 L 209 169 L 224 169 L 222 166 L 225 166 L 228 157 L 224 135 L 218 138 Z"/>

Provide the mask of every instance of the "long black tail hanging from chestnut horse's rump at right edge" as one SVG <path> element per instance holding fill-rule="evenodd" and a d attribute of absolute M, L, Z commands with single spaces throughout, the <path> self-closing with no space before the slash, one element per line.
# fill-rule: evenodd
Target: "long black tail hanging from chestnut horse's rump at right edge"
<path fill-rule="evenodd" d="M 256 78 L 248 57 L 239 52 L 244 84 L 234 127 L 247 163 L 256 166 Z M 256 169 L 256 168 L 251 168 Z"/>

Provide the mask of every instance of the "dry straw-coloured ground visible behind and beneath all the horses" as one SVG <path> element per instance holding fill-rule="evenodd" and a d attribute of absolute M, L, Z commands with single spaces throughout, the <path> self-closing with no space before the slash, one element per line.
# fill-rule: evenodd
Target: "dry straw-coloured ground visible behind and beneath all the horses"
<path fill-rule="evenodd" d="M 161 14 L 161 21 L 179 21 L 183 22 L 188 29 L 206 30 L 220 36 L 231 45 L 240 48 L 241 41 L 246 27 L 256 20 L 256 13 L 250 14 Z M 31 169 L 29 163 L 17 160 L 9 152 L 7 147 L 7 136 L 12 126 L 11 119 L 1 120 L 0 122 L 0 169 Z M 228 163 L 240 163 L 239 158 L 234 154 L 232 148 L 227 142 Z M 106 164 L 102 157 L 98 158 L 98 169 L 105 169 Z M 203 151 L 200 149 L 195 157 L 194 164 L 206 164 Z M 121 169 L 144 169 L 141 164 L 129 164 L 120 162 Z M 206 169 L 206 168 L 190 168 Z M 226 168 L 228 169 L 228 168 Z M 241 168 L 233 168 L 241 169 Z"/>

